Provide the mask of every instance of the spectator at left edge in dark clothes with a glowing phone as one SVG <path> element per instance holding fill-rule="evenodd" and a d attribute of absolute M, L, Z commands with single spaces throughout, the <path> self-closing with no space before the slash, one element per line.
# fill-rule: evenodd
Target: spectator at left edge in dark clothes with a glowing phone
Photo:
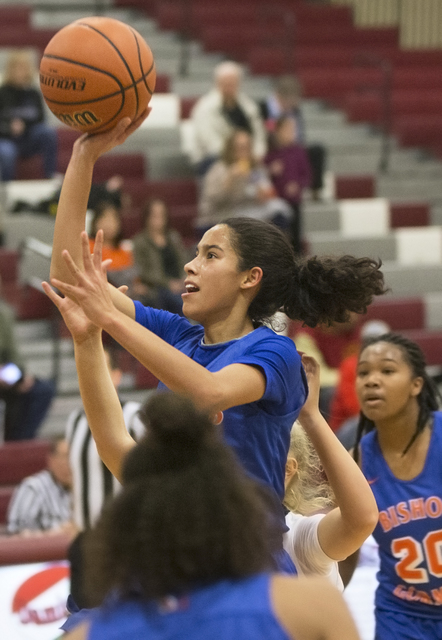
<path fill-rule="evenodd" d="M 26 373 L 14 326 L 12 307 L 0 300 L 0 400 L 5 403 L 4 439 L 29 440 L 34 438 L 49 410 L 55 385 L 52 380 Z M 6 365 L 9 365 L 7 369 Z"/>

